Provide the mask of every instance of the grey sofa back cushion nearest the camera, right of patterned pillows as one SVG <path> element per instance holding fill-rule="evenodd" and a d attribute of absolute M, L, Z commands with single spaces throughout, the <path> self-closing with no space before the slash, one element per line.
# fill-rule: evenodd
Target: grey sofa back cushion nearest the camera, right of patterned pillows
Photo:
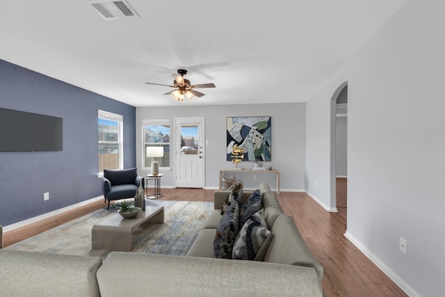
<path fill-rule="evenodd" d="M 315 268 L 318 278 L 323 276 L 323 266 L 319 264 L 307 248 L 291 216 L 280 214 L 270 232 L 273 234 L 264 262 L 306 266 Z"/>

